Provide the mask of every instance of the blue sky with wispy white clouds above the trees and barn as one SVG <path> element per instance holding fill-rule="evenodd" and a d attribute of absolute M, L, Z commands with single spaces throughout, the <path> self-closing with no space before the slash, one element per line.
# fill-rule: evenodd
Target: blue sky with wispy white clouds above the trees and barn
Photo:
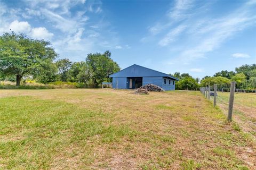
<path fill-rule="evenodd" d="M 110 50 L 122 69 L 203 78 L 256 63 L 256 1 L 0 1 L 0 34 L 10 29 L 71 61 Z"/>

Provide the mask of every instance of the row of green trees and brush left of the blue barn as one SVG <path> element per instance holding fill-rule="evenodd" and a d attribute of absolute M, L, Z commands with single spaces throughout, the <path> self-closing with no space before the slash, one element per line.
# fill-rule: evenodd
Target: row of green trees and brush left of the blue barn
<path fill-rule="evenodd" d="M 45 40 L 31 39 L 23 33 L 5 32 L 0 37 L 0 80 L 16 82 L 16 86 L 98 87 L 111 81 L 110 74 L 120 70 L 111 53 L 88 54 L 85 61 L 71 62 L 58 54 Z M 35 83 L 37 82 L 37 84 Z M 38 83 L 42 83 L 41 85 Z M 8 85 L 8 83 L 7 83 Z M 12 83 L 9 83 L 12 85 Z M 0 84 L 1 86 L 1 84 Z"/>

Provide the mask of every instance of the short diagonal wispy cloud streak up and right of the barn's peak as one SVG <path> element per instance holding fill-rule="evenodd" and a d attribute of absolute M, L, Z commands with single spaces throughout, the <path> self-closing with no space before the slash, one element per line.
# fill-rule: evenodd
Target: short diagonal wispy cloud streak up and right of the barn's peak
<path fill-rule="evenodd" d="M 172 29 L 167 35 L 159 41 L 159 45 L 167 46 L 168 44 L 175 41 L 175 39 L 180 35 L 180 33 L 186 29 L 186 25 L 179 25 L 177 28 Z"/>

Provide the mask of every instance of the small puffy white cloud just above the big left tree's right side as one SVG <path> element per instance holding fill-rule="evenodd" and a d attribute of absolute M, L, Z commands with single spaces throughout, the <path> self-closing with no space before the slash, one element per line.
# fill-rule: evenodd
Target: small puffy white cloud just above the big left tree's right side
<path fill-rule="evenodd" d="M 53 33 L 49 32 L 44 27 L 33 28 L 30 33 L 32 38 L 50 40 L 53 37 Z"/>

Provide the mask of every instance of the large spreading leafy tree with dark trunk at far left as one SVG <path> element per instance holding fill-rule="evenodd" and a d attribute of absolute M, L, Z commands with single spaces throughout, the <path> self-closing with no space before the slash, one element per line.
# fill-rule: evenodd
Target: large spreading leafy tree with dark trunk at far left
<path fill-rule="evenodd" d="M 42 68 L 58 55 L 49 41 L 34 40 L 13 31 L 0 36 L 0 71 L 6 76 L 16 76 L 16 85 L 25 75 L 38 75 Z"/>

